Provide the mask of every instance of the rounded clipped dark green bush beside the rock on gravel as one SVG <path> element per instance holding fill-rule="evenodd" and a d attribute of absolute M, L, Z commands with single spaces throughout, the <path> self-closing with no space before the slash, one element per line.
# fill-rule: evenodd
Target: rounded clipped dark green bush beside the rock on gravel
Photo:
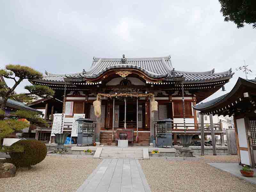
<path fill-rule="evenodd" d="M 47 154 L 45 144 L 38 140 L 20 140 L 11 147 L 14 145 L 24 149 L 23 152 L 9 152 L 10 160 L 16 167 L 31 167 L 43 161 Z"/>

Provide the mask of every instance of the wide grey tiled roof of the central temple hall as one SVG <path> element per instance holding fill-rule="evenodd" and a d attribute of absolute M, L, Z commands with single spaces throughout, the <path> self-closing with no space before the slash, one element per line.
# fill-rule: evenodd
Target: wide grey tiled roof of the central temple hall
<path fill-rule="evenodd" d="M 232 70 L 215 73 L 214 69 L 205 72 L 172 71 L 171 57 L 154 58 L 126 58 L 126 63 L 121 58 L 93 58 L 92 66 L 88 71 L 73 74 L 53 74 L 46 72 L 43 81 L 64 82 L 64 78 L 93 79 L 110 69 L 137 69 L 153 78 L 185 77 L 185 82 L 207 82 L 212 80 L 229 79 L 233 76 Z M 173 74 L 174 73 L 174 74 Z"/>

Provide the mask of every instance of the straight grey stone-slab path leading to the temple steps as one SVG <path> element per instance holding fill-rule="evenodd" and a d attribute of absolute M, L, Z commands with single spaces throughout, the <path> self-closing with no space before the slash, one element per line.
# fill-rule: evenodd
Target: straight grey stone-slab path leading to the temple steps
<path fill-rule="evenodd" d="M 103 159 L 77 192 L 150 192 L 136 159 Z"/>

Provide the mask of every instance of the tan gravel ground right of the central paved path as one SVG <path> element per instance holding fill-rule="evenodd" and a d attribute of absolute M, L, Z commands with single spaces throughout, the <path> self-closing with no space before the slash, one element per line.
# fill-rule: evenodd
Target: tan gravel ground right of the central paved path
<path fill-rule="evenodd" d="M 152 192 L 256 191 L 256 185 L 216 169 L 206 162 L 237 162 L 237 156 L 205 156 L 197 162 L 140 160 Z"/>

